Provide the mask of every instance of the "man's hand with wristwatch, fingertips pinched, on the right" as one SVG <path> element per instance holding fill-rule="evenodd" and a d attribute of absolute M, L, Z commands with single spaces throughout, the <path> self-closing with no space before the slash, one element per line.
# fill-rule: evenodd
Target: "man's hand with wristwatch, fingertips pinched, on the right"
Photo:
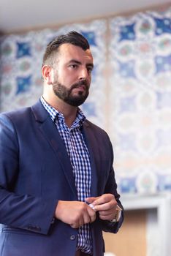
<path fill-rule="evenodd" d="M 116 214 L 117 201 L 114 195 L 104 194 L 100 197 L 88 197 L 86 202 L 94 206 L 94 211 L 99 211 L 99 218 L 103 220 L 112 220 Z"/>

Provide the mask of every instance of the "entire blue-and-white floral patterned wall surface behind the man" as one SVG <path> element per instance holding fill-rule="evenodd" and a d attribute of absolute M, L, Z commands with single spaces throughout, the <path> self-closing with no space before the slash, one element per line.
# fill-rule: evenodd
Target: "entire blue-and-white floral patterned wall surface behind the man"
<path fill-rule="evenodd" d="M 91 94 L 81 108 L 110 135 L 119 191 L 171 190 L 171 8 L 1 37 L 1 112 L 37 101 L 45 45 L 70 30 L 91 45 Z"/>

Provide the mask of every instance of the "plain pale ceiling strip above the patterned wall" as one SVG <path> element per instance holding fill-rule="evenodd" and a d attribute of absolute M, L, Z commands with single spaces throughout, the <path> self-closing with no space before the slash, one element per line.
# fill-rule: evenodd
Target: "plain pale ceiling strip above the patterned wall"
<path fill-rule="evenodd" d="M 171 0 L 0 0 L 0 31 L 54 26 L 145 10 Z"/>

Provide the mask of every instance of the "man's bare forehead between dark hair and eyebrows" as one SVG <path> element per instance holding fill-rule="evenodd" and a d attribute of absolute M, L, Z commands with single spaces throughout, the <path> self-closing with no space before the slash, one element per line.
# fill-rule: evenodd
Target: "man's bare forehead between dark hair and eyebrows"
<path fill-rule="evenodd" d="M 63 44 L 59 47 L 59 61 L 70 61 L 71 59 L 77 59 L 81 62 L 93 63 L 93 56 L 91 50 L 83 50 L 79 46 L 72 44 Z"/>

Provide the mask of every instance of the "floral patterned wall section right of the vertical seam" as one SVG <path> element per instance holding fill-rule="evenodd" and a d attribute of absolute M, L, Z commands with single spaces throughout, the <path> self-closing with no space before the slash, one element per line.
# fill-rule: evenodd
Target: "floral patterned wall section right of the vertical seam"
<path fill-rule="evenodd" d="M 171 189 L 171 10 L 110 20 L 111 126 L 122 192 Z"/>

